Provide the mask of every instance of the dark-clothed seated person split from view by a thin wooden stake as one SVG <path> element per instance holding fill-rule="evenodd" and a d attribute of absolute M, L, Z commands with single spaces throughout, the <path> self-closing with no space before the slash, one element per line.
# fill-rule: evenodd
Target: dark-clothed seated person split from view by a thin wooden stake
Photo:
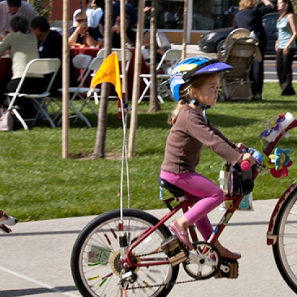
<path fill-rule="evenodd" d="M 126 14 L 126 44 L 130 45 L 131 47 L 135 46 L 135 40 L 136 40 L 136 33 L 132 29 L 129 29 L 129 15 Z M 114 26 L 111 27 L 111 44 L 113 48 L 121 48 L 121 17 L 120 15 L 116 16 L 116 19 L 114 21 Z"/>

